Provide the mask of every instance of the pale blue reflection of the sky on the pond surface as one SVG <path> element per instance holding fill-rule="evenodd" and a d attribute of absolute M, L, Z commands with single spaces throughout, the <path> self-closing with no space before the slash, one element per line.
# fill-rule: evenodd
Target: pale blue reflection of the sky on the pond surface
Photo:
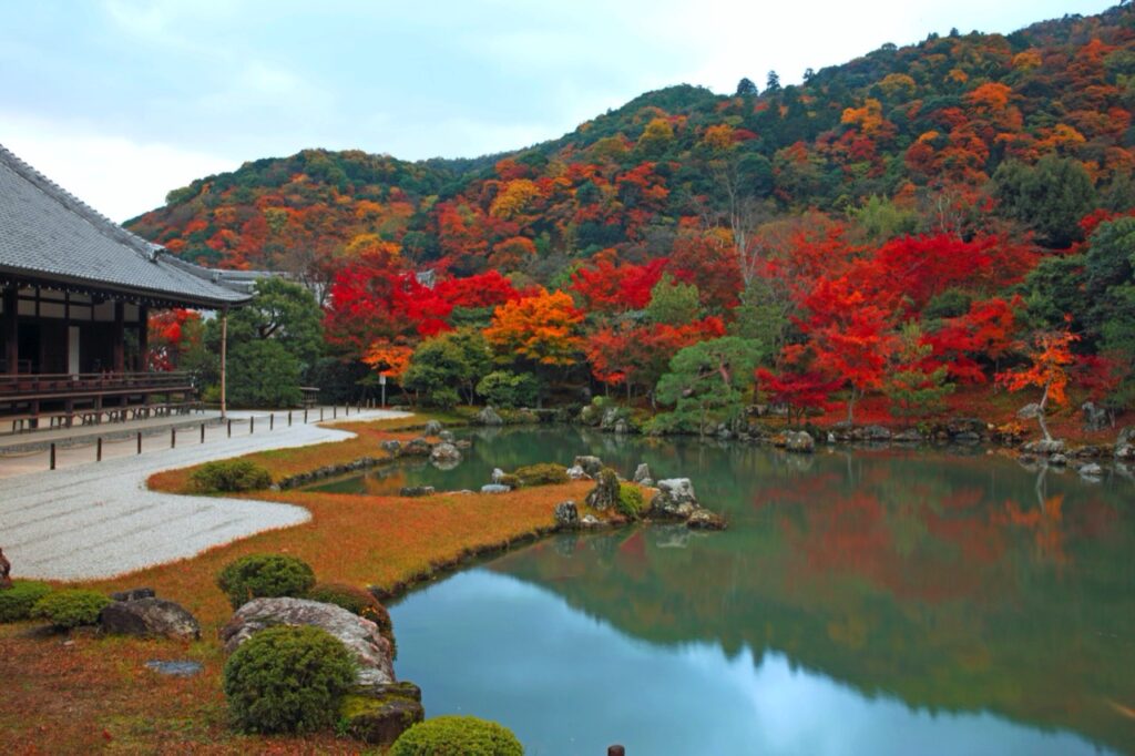
<path fill-rule="evenodd" d="M 530 756 L 604 754 L 1101 753 L 989 714 L 931 714 L 867 698 L 768 654 L 629 638 L 515 578 L 472 570 L 392 608 L 400 678 L 427 716 L 512 728 Z"/>

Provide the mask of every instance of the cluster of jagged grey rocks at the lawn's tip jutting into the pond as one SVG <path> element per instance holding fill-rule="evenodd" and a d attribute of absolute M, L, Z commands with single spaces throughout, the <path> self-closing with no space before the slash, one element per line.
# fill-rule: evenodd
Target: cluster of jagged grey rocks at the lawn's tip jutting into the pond
<path fill-rule="evenodd" d="M 595 480 L 596 486 L 585 499 L 585 503 L 596 512 L 611 512 L 619 505 L 619 476 L 597 456 L 577 456 L 568 476 L 573 480 Z M 642 516 L 651 521 L 684 522 L 695 530 L 723 530 L 725 520 L 701 506 L 693 493 L 693 484 L 689 478 L 670 478 L 654 480 L 650 468 L 639 464 L 634 470 L 634 482 L 646 488 L 654 488 L 649 505 Z M 574 501 L 561 502 L 555 509 L 556 526 L 561 529 L 598 528 L 612 523 L 621 523 L 621 518 L 600 520 L 594 514 L 579 514 Z"/>

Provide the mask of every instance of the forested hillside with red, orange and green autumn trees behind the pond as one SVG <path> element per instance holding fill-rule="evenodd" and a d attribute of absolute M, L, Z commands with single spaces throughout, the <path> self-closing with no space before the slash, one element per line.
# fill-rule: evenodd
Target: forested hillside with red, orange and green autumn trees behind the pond
<path fill-rule="evenodd" d="M 466 326 L 538 394 L 574 378 L 680 404 L 698 381 L 659 381 L 698 345 L 691 375 L 756 369 L 801 412 L 885 394 L 919 417 L 999 377 L 1127 404 L 1130 6 L 759 78 L 650 92 L 502 156 L 257 160 L 129 226 L 186 259 L 294 274 L 338 355 L 394 375 Z"/>

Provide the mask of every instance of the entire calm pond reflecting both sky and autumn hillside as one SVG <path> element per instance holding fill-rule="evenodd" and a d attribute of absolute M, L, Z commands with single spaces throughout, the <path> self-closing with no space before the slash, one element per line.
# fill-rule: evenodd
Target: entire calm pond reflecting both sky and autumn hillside
<path fill-rule="evenodd" d="M 981 450 L 471 438 L 448 472 L 350 485 L 474 488 L 592 453 L 691 478 L 731 527 L 557 536 L 409 595 L 396 669 L 429 716 L 497 720 L 539 755 L 1135 750 L 1135 485 L 1117 473 Z"/>

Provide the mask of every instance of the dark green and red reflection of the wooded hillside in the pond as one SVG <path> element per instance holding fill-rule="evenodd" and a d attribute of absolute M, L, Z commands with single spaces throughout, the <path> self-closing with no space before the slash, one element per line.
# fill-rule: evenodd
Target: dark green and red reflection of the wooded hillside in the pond
<path fill-rule="evenodd" d="M 563 537 L 493 566 L 654 642 L 775 649 L 913 707 L 1132 747 L 1129 488 L 984 459 L 817 455 L 802 472 L 765 457 L 739 478 L 726 455 L 699 486 L 745 495 L 730 531 Z"/>

